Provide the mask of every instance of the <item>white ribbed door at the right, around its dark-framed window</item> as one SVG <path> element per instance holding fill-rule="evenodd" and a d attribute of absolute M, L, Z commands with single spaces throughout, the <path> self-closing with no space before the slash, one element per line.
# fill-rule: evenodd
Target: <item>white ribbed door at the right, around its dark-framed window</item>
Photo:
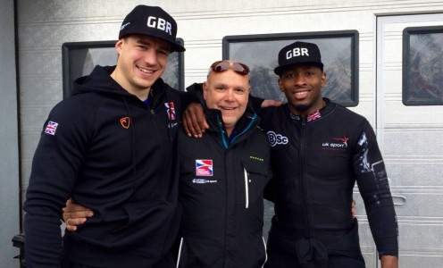
<path fill-rule="evenodd" d="M 402 268 L 443 267 L 443 105 L 402 102 L 403 31 L 436 25 L 443 13 L 377 17 L 375 128 L 396 204 Z M 423 68 L 443 78 L 443 38 L 437 41 L 437 50 L 429 40 L 418 46 L 420 61 L 432 62 Z"/>

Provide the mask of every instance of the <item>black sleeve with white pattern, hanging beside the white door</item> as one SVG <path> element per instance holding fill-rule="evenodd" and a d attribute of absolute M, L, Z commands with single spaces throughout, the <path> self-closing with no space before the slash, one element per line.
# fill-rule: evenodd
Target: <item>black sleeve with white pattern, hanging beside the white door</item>
<path fill-rule="evenodd" d="M 353 159 L 356 181 L 379 255 L 398 255 L 397 216 L 385 165 L 368 121 L 358 138 Z"/>

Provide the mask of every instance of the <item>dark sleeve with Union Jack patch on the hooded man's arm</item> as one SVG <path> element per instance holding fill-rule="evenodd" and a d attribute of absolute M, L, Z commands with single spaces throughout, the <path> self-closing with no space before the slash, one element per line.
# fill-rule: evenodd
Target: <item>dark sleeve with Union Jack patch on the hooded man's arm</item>
<path fill-rule="evenodd" d="M 62 208 L 71 196 L 86 147 L 87 126 L 74 106 L 56 105 L 43 127 L 24 203 L 26 263 L 60 267 Z"/>

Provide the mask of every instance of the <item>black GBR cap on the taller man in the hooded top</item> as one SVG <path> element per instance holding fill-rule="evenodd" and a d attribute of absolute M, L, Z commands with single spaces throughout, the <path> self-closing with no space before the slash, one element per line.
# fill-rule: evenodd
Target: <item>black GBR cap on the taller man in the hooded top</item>
<path fill-rule="evenodd" d="M 171 52 L 185 51 L 176 42 L 177 22 L 159 6 L 140 4 L 121 23 L 119 39 L 129 35 L 143 35 L 159 38 L 171 45 Z"/>

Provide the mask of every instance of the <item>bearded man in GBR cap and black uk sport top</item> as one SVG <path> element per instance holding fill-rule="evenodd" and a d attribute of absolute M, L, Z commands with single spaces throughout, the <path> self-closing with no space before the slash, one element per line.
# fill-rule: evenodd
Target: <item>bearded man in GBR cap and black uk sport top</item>
<path fill-rule="evenodd" d="M 261 113 L 274 172 L 267 197 L 275 205 L 265 267 L 364 268 L 349 210 L 355 181 L 381 266 L 397 267 L 397 218 L 370 123 L 322 97 L 326 73 L 315 44 L 283 47 L 274 72 L 288 103 Z"/>

